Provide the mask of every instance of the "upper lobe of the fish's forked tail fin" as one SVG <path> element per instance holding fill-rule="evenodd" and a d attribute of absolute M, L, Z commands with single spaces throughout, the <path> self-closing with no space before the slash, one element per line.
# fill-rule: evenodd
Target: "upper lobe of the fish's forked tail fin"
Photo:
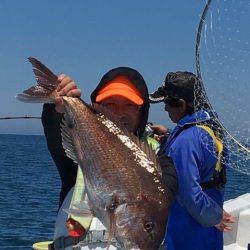
<path fill-rule="evenodd" d="M 59 83 L 58 77 L 37 59 L 29 57 L 28 60 L 33 66 L 38 86 L 49 91 L 54 91 Z"/>

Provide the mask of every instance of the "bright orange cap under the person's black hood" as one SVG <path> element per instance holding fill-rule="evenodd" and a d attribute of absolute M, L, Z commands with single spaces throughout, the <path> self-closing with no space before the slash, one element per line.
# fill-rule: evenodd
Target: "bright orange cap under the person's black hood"
<path fill-rule="evenodd" d="M 109 81 L 96 96 L 96 102 L 100 102 L 111 96 L 123 96 L 137 105 L 142 105 L 144 100 L 139 91 L 126 76 L 117 76 Z"/>

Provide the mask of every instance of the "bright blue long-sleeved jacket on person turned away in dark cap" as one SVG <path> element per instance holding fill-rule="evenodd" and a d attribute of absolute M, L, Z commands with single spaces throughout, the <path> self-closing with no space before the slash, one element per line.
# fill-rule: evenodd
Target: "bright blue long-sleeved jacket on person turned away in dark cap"
<path fill-rule="evenodd" d="M 168 250 L 221 250 L 223 235 L 214 226 L 222 219 L 224 190 L 202 190 L 211 180 L 217 154 L 212 137 L 197 122 L 210 116 L 199 111 L 182 118 L 161 150 L 171 157 L 176 168 L 178 192 L 167 225 Z M 183 126 L 190 126 L 183 130 Z M 179 130 L 183 130 L 175 137 Z"/>

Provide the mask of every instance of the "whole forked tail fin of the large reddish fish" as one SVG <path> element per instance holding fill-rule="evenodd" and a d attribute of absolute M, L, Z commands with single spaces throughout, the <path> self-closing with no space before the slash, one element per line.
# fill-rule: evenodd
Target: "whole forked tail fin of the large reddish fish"
<path fill-rule="evenodd" d="M 59 83 L 58 77 L 37 59 L 29 57 L 28 60 L 33 66 L 37 85 L 24 90 L 23 93 L 16 96 L 16 99 L 22 102 L 53 102 Z"/>

